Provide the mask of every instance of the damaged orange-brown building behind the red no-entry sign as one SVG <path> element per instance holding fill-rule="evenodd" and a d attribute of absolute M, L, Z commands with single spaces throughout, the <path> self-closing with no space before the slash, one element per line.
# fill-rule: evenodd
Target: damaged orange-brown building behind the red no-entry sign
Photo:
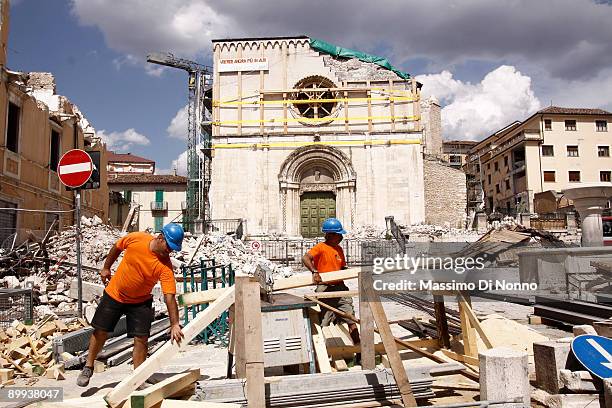
<path fill-rule="evenodd" d="M 85 215 L 105 220 L 105 147 L 77 106 L 56 94 L 52 74 L 7 68 L 8 2 L 0 7 L 0 208 L 36 210 L 0 211 L 0 244 L 15 232 L 44 231 L 56 217 L 60 226 L 74 222 L 71 212 L 48 212 L 73 208 L 74 193 L 60 184 L 56 169 L 62 154 L 74 148 L 100 152 L 101 186 L 81 197 Z"/>

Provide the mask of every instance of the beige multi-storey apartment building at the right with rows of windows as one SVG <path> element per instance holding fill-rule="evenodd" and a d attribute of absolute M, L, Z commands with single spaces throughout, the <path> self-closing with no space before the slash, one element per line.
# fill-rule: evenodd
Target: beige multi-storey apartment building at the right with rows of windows
<path fill-rule="evenodd" d="M 482 140 L 464 166 L 468 197 L 481 197 L 468 211 L 534 212 L 534 194 L 612 183 L 611 121 L 602 109 L 550 106 Z"/>

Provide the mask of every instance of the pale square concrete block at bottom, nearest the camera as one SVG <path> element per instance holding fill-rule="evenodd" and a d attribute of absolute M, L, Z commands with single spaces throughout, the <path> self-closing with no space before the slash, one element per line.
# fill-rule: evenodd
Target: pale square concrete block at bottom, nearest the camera
<path fill-rule="evenodd" d="M 520 398 L 522 403 L 499 407 L 530 405 L 529 358 L 527 353 L 496 347 L 479 353 L 480 395 L 482 400 L 499 401 Z"/>

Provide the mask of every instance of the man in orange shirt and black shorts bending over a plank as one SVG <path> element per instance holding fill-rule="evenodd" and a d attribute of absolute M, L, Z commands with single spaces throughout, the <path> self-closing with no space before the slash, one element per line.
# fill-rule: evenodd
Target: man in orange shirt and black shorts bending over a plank
<path fill-rule="evenodd" d="M 146 232 L 133 232 L 113 245 L 100 271 L 102 281 L 108 285 L 91 321 L 94 331 L 89 340 L 87 362 L 77 377 L 77 385 L 85 387 L 89 384 L 94 361 L 104 346 L 108 333 L 115 330 L 122 315 L 126 317 L 128 337 L 134 338 L 134 368 L 145 361 L 154 317 L 151 290 L 157 282 L 161 283 L 170 317 L 170 341 L 180 344 L 184 335 L 179 324 L 175 299 L 176 281 L 170 252 L 181 250 L 183 236 L 183 228 L 170 223 L 165 225 L 157 236 Z M 123 251 L 123 259 L 116 273 L 111 276 L 110 268 Z"/>

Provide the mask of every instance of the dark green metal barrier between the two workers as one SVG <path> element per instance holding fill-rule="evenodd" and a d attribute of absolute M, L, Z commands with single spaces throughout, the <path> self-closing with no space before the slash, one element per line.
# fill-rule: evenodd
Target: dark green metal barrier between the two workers
<path fill-rule="evenodd" d="M 199 264 L 182 266 L 181 270 L 183 272 L 184 293 L 234 286 L 236 278 L 231 265 L 217 265 L 214 259 L 200 259 Z M 207 307 L 207 304 L 186 306 L 183 316 L 185 325 L 189 323 L 190 317 L 194 319 L 198 312 Z M 197 338 L 207 344 L 217 340 L 227 346 L 229 343 L 228 333 L 229 312 L 226 310 L 208 325 Z"/>

